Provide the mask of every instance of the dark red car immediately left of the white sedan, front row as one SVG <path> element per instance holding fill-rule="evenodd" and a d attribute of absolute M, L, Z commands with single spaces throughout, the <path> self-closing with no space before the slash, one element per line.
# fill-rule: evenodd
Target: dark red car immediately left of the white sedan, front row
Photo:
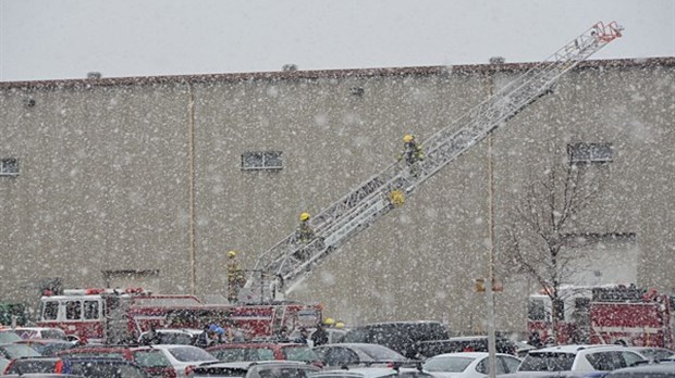
<path fill-rule="evenodd" d="M 173 365 L 164 353 L 151 346 L 79 346 L 57 353 L 62 358 L 108 357 L 133 361 L 150 377 L 174 378 Z"/>

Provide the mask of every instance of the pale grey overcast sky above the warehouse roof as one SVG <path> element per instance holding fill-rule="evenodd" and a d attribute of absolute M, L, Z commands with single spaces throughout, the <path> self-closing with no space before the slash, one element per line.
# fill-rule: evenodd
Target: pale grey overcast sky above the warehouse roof
<path fill-rule="evenodd" d="M 0 81 L 675 55 L 675 0 L 0 0 Z"/>

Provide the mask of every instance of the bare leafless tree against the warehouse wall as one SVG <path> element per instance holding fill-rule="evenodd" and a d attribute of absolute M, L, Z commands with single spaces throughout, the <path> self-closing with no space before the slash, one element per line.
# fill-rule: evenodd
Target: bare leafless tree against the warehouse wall
<path fill-rule="evenodd" d="M 578 216 L 600 190 L 603 175 L 598 173 L 606 173 L 601 166 L 563 161 L 525 187 L 506 229 L 504 250 L 512 272 L 536 281 L 551 299 L 554 342 L 559 339 L 559 311 L 564 300 L 561 286 L 570 284 L 584 259 L 578 248 L 591 242 L 576 232 Z"/>

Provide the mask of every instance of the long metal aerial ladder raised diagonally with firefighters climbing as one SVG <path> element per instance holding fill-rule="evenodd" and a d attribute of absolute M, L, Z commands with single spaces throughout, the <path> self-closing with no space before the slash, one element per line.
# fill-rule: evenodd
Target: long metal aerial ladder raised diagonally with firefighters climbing
<path fill-rule="evenodd" d="M 282 300 L 321 261 L 355 235 L 403 204 L 429 177 L 503 126 L 529 104 L 552 91 L 559 77 L 621 37 L 623 27 L 599 22 L 543 62 L 494 92 L 450 126 L 422 142 L 425 159 L 414 169 L 395 162 L 352 190 L 309 222 L 315 238 L 304 242 L 294 234 L 262 253 L 249 270 L 241 303 Z"/>

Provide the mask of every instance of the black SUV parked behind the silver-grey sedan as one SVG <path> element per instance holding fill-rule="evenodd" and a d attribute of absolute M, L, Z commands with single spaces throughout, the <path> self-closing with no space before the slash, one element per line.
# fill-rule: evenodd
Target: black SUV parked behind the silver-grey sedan
<path fill-rule="evenodd" d="M 342 342 L 380 344 L 408 358 L 418 358 L 420 342 L 449 338 L 447 328 L 440 322 L 390 322 L 354 328 Z"/>

